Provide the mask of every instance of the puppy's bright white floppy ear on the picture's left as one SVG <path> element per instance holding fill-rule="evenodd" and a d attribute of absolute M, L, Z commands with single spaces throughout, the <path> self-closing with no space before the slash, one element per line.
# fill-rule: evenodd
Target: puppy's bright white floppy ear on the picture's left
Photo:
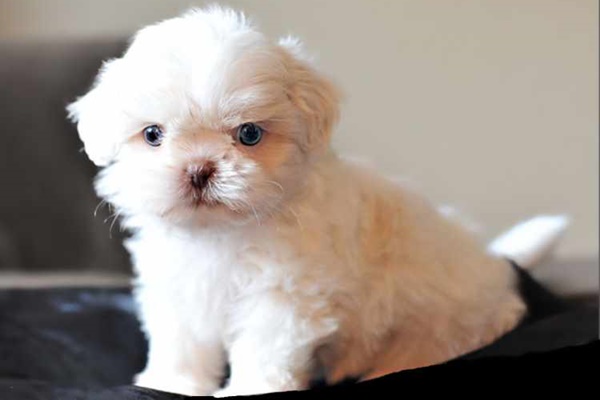
<path fill-rule="evenodd" d="M 123 141 L 121 131 L 125 116 L 118 106 L 119 85 L 114 76 L 118 61 L 106 62 L 93 88 L 67 106 L 69 118 L 77 124 L 85 152 L 99 167 L 110 164 Z"/>

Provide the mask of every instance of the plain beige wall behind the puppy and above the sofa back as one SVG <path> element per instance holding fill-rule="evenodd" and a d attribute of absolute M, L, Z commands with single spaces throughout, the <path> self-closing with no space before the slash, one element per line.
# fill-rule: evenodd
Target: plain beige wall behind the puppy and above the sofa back
<path fill-rule="evenodd" d="M 0 37 L 129 35 L 203 3 L 0 0 Z M 228 4 L 299 35 L 343 87 L 341 151 L 458 206 L 486 237 L 568 213 L 560 254 L 597 257 L 596 0 Z"/>

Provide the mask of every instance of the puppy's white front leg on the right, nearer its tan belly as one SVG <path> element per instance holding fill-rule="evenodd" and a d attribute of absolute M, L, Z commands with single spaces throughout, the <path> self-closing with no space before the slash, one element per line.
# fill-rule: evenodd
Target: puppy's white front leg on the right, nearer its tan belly
<path fill-rule="evenodd" d="M 216 397 L 306 389 L 315 372 L 314 353 L 337 329 L 324 310 L 282 296 L 253 299 L 236 313 L 228 348 L 231 376 Z"/>

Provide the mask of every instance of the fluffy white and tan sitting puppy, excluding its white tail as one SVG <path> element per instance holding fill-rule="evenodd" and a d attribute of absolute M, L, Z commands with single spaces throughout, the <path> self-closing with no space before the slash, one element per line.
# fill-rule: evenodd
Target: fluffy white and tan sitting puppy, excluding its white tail
<path fill-rule="evenodd" d="M 331 150 L 338 106 L 297 40 L 213 7 L 142 29 L 68 107 L 132 233 L 150 346 L 137 385 L 227 396 L 372 378 L 526 315 L 507 261 Z"/>

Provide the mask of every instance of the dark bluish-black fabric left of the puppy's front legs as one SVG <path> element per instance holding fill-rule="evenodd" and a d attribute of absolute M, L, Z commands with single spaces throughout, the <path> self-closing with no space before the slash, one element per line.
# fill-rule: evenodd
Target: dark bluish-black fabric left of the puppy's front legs
<path fill-rule="evenodd" d="M 145 353 L 127 290 L 0 291 L 1 377 L 122 385 Z"/>

